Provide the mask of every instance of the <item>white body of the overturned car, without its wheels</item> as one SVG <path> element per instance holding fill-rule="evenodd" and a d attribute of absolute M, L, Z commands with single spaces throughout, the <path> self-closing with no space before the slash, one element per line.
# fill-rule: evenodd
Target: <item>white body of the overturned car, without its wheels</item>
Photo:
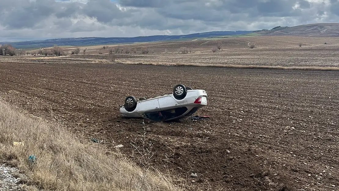
<path fill-rule="evenodd" d="M 142 117 L 152 121 L 176 120 L 191 116 L 199 108 L 207 105 L 205 90 L 187 90 L 186 96 L 178 100 L 172 94 L 137 101 L 134 111 L 128 112 L 124 106 L 120 107 L 120 114 L 124 117 Z M 194 103 L 201 98 L 201 103 Z"/>

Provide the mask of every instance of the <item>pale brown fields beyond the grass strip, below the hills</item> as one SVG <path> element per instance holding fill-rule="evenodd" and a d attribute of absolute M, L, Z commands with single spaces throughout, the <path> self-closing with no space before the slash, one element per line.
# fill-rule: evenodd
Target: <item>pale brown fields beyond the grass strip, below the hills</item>
<path fill-rule="evenodd" d="M 212 50 L 218 44 L 221 45 L 221 50 L 213 52 Z M 255 45 L 255 48 L 251 49 L 250 45 Z M 117 46 L 111 46 L 111 48 L 115 47 Z M 186 47 L 189 53 L 179 53 L 180 48 L 183 47 Z M 113 56 L 114 59 L 123 63 L 158 63 L 160 65 L 339 67 L 338 47 L 339 38 L 330 37 L 246 37 L 121 45 L 120 50 L 123 50 L 123 54 L 113 54 Z M 85 48 L 87 50 L 83 55 L 82 50 Z M 149 49 L 149 53 L 141 54 L 141 50 L 145 48 Z M 71 50 L 72 47 L 67 49 Z M 50 59 L 45 59 L 43 56 L 8 57 L 0 58 L 0 62 L 97 63 L 102 59 L 112 60 L 108 55 L 109 49 L 103 50 L 101 46 L 88 46 L 81 47 L 79 55 Z M 125 53 L 127 49 L 130 50 L 129 54 Z"/>

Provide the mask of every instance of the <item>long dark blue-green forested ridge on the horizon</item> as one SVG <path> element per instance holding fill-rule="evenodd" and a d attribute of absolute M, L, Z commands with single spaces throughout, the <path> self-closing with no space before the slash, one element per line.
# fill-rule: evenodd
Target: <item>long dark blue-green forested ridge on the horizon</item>
<path fill-rule="evenodd" d="M 105 44 L 123 44 L 133 42 L 155 42 L 168 40 L 184 40 L 190 38 L 206 38 L 214 36 L 240 35 L 252 33 L 252 31 L 212 31 L 205 33 L 194 33 L 188 35 L 156 35 L 139 37 L 83 37 L 83 38 L 57 38 L 48 40 L 32 40 L 20 42 L 0 42 L 0 44 L 12 44 L 17 49 L 50 47 L 55 44 L 59 46 L 87 46 L 87 45 L 105 45 Z"/>

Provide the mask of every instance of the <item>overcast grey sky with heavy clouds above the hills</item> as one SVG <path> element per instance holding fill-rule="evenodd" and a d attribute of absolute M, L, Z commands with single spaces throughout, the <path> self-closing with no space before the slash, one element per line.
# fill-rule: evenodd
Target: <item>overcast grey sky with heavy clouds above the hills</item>
<path fill-rule="evenodd" d="M 339 22 L 339 0 L 0 0 L 0 41 Z"/>

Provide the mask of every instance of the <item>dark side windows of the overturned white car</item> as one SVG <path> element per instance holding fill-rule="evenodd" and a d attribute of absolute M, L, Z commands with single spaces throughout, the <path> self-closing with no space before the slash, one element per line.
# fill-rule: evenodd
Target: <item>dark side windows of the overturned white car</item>
<path fill-rule="evenodd" d="M 151 119 L 153 121 L 162 121 L 162 120 L 168 120 L 175 117 L 178 117 L 182 114 L 184 114 L 187 111 L 186 107 L 182 108 L 175 108 L 171 110 L 163 110 L 163 111 L 157 111 L 152 113 L 145 113 L 143 114 L 144 117 Z"/>

